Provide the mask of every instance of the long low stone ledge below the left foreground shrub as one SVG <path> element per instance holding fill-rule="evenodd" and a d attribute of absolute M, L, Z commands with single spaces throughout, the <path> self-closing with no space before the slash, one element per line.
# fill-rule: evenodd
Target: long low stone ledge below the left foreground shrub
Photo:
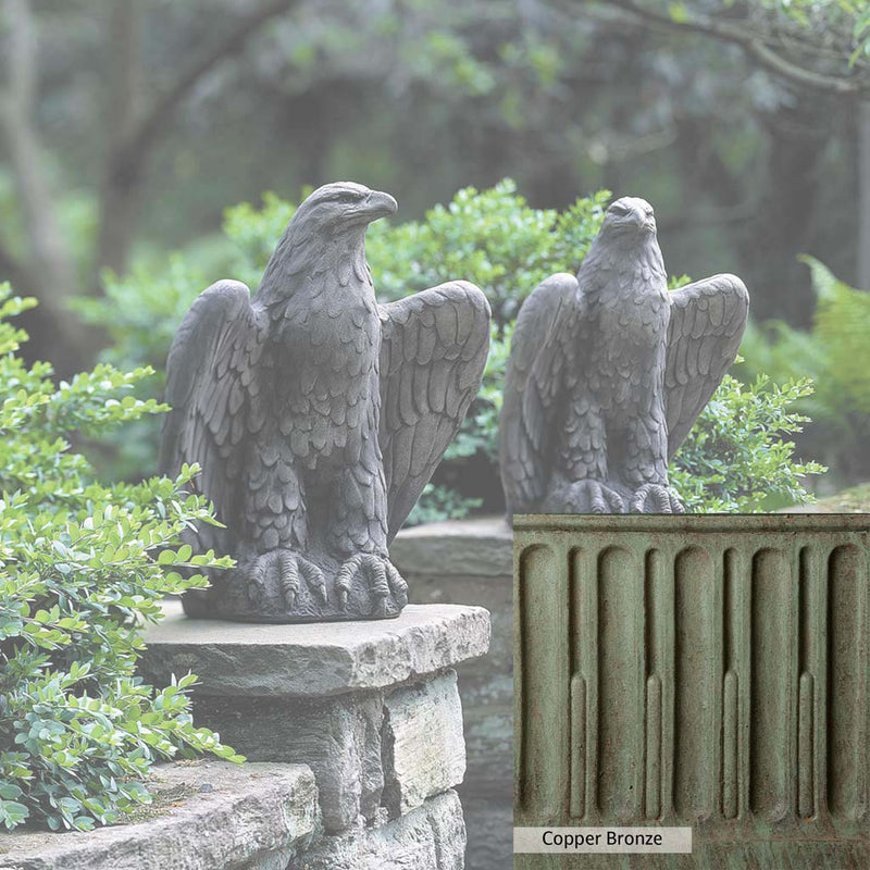
<path fill-rule="evenodd" d="M 90 833 L 0 837 L 2 870 L 278 870 L 318 829 L 308 768 L 202 761 L 156 768 L 165 815 Z M 177 794 L 176 794 L 177 793 Z"/>

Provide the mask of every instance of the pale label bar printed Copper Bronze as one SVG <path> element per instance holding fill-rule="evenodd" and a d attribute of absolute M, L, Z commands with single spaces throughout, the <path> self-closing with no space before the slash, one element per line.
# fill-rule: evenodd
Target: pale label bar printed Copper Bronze
<path fill-rule="evenodd" d="M 691 828 L 514 828 L 514 854 L 692 852 Z"/>

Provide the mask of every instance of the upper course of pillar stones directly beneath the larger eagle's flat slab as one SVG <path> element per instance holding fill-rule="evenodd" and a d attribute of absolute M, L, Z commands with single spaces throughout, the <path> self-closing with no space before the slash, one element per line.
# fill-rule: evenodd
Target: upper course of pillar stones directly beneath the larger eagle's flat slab
<path fill-rule="evenodd" d="M 196 721 L 257 761 L 308 765 L 323 825 L 370 824 L 462 782 L 465 750 L 456 673 L 401 686 L 304 701 L 196 696 Z"/>

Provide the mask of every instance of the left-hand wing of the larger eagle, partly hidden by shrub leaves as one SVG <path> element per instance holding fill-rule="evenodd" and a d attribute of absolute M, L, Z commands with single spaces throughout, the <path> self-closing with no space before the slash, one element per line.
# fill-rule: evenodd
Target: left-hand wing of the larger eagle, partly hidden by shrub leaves
<path fill-rule="evenodd" d="M 264 420 L 257 378 L 263 319 L 244 284 L 219 281 L 190 307 L 166 361 L 172 410 L 163 423 L 160 471 L 175 475 L 185 462 L 199 463 L 195 492 L 214 502 L 223 522 L 240 509 L 240 444 Z"/>

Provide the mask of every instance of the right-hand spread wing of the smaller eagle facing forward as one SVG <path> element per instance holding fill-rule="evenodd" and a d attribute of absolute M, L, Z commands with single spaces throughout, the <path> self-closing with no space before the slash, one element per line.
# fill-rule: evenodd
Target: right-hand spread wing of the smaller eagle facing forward
<path fill-rule="evenodd" d="M 737 356 L 749 294 L 736 275 L 713 275 L 671 294 L 664 415 L 668 461 Z"/>

